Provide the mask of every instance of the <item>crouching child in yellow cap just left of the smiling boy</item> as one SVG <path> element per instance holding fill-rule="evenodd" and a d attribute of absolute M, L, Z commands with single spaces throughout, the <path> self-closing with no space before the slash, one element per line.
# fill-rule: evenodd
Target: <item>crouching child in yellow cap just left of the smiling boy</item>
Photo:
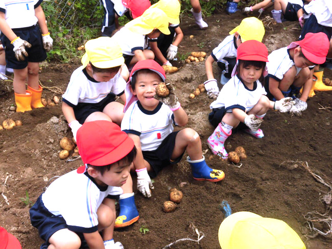
<path fill-rule="evenodd" d="M 109 120 L 121 125 L 129 71 L 124 65 L 121 47 L 109 37 L 92 39 L 85 44 L 82 66 L 77 68 L 62 95 L 62 112 L 76 140 L 84 122 Z"/>

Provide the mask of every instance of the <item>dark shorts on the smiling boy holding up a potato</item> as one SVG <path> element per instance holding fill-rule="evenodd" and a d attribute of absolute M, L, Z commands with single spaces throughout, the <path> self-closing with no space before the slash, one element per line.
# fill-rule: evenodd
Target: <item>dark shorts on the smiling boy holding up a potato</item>
<path fill-rule="evenodd" d="M 160 170 L 170 164 L 178 163 L 183 157 L 184 152 L 174 161 L 171 161 L 171 157 L 174 151 L 175 138 L 178 134 L 177 132 L 172 132 L 170 135 L 162 140 L 159 147 L 154 151 L 142 151 L 144 159 L 150 163 L 154 171 L 149 172 L 150 177 L 156 177 Z"/>

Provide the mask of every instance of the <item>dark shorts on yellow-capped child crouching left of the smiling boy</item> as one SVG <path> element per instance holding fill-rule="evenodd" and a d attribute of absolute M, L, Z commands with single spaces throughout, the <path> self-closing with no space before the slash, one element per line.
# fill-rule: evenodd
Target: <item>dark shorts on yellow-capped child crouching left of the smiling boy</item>
<path fill-rule="evenodd" d="M 85 119 L 93 112 L 103 112 L 104 108 L 111 102 L 115 101 L 115 94 L 109 93 L 102 101 L 98 103 L 78 103 L 77 106 L 72 106 L 74 109 L 75 118 L 80 124 L 83 124 Z M 68 104 L 65 100 L 64 102 Z M 71 105 L 70 105 L 71 106 Z"/>

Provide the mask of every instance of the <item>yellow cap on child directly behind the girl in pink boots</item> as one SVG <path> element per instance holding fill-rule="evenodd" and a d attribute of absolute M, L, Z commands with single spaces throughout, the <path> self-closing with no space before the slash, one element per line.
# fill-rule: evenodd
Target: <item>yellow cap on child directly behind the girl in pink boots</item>
<path fill-rule="evenodd" d="M 261 20 L 258 20 L 256 17 L 247 17 L 241 21 L 238 27 L 229 32 L 229 34 L 232 35 L 235 32 L 239 33 L 242 42 L 248 40 L 262 42 L 265 29 Z"/>

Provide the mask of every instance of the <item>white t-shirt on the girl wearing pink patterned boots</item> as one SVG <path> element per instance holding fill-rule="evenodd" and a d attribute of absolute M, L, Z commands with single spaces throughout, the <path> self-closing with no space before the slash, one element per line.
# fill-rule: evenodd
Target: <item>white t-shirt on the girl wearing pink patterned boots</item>
<path fill-rule="evenodd" d="M 217 99 L 211 103 L 210 109 L 225 107 L 226 112 L 232 112 L 233 108 L 239 108 L 248 112 L 258 103 L 259 98 L 266 94 L 259 81 L 254 82 L 253 89 L 250 90 L 236 74 L 223 86 Z"/>

